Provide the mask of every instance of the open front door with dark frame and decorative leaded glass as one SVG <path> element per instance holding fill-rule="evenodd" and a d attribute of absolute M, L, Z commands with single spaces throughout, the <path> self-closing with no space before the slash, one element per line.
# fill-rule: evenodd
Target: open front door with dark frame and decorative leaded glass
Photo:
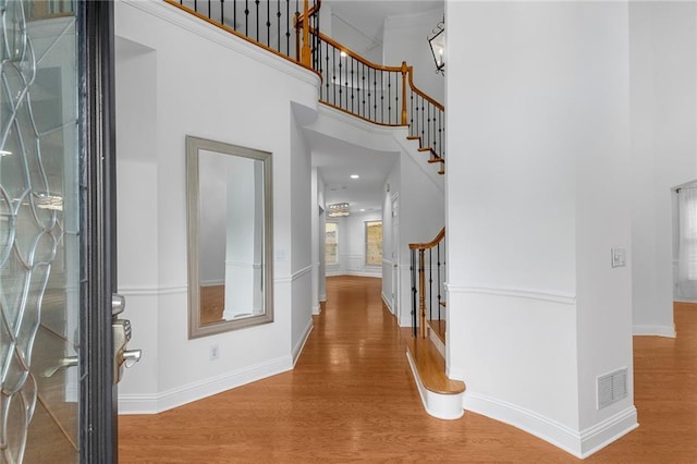
<path fill-rule="evenodd" d="M 112 8 L 0 0 L 0 463 L 117 459 Z"/>

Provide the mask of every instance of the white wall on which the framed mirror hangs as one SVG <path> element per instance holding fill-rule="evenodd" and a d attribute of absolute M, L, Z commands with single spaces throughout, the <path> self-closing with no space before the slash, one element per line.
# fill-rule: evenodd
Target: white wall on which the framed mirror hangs
<path fill-rule="evenodd" d="M 144 350 L 120 407 L 157 412 L 292 367 L 310 284 L 309 231 L 291 230 L 309 223 L 310 173 L 291 100 L 315 108 L 318 81 L 163 2 L 117 2 L 115 28 L 119 288 Z M 187 340 L 186 134 L 273 154 L 272 323 Z"/>

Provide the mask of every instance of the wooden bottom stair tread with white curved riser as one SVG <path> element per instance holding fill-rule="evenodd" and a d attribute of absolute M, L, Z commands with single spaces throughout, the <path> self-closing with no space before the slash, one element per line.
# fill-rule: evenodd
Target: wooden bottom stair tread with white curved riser
<path fill-rule="evenodd" d="M 445 376 L 445 359 L 430 340 L 413 337 L 409 328 L 402 330 L 406 347 L 427 390 L 440 394 L 460 394 L 465 391 L 464 382 Z"/>

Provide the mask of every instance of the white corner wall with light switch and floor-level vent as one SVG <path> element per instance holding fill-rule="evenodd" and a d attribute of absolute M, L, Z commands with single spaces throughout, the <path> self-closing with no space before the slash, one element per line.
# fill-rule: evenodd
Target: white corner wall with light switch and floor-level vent
<path fill-rule="evenodd" d="M 632 392 L 595 402 L 632 377 L 627 5 L 447 16 L 449 373 L 465 408 L 587 455 L 636 426 Z"/>

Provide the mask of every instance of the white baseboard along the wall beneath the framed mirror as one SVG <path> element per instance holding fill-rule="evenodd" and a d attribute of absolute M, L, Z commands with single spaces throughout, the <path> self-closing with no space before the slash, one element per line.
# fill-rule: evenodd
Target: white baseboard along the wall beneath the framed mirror
<path fill-rule="evenodd" d="M 157 414 L 225 390 L 265 379 L 293 368 L 293 359 L 281 356 L 220 376 L 198 380 L 156 394 L 120 394 L 119 414 Z"/>

